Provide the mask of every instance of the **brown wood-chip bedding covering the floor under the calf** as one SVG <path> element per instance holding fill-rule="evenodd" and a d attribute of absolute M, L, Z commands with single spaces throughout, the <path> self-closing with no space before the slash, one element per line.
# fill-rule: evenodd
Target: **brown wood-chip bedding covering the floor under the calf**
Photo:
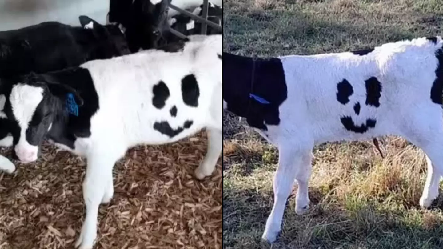
<path fill-rule="evenodd" d="M 100 206 L 95 248 L 221 249 L 221 159 L 209 178 L 193 175 L 206 144 L 200 132 L 128 150 L 114 167 L 114 198 Z M 16 166 L 0 173 L 0 249 L 74 248 L 85 162 L 45 145 L 37 163 Z"/>

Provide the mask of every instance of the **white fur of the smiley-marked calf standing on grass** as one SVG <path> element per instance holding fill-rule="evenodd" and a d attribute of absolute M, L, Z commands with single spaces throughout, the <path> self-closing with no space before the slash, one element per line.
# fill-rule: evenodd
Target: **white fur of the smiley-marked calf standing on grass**
<path fill-rule="evenodd" d="M 428 207 L 439 193 L 443 172 L 442 107 L 431 101 L 436 78 L 437 44 L 420 38 L 387 43 L 367 55 L 350 52 L 290 55 L 280 57 L 288 86 L 288 98 L 280 105 L 280 124 L 261 132 L 279 149 L 279 166 L 274 178 L 274 205 L 262 238 L 273 242 L 280 231 L 286 199 L 294 179 L 299 185 L 295 211 L 309 206 L 307 183 L 311 175 L 311 152 L 327 141 L 368 140 L 385 135 L 402 136 L 427 154 L 428 176 L 420 205 Z M 382 92 L 380 107 L 365 105 L 365 80 L 377 77 Z M 337 83 L 346 79 L 354 88 L 350 101 L 337 101 Z M 353 106 L 359 101 L 360 115 Z M 350 116 L 356 125 L 368 118 L 375 128 L 363 134 L 343 127 L 340 117 Z"/>

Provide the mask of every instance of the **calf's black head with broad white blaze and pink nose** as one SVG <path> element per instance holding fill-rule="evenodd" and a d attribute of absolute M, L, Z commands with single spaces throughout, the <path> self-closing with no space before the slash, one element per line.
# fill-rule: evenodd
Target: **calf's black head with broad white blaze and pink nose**
<path fill-rule="evenodd" d="M 4 92 L 7 96 L 4 113 L 16 156 L 23 163 L 37 160 L 39 146 L 51 125 L 65 117 L 67 96 L 74 96 L 76 103 L 83 105 L 74 89 L 55 82 L 50 75 L 29 74 Z"/>

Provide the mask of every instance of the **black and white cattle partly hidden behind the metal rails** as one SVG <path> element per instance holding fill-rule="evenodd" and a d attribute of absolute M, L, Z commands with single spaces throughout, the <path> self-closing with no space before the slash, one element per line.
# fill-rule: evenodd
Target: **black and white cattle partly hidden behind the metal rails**
<path fill-rule="evenodd" d="M 195 8 L 192 13 L 196 16 L 202 16 L 202 8 L 203 5 L 200 5 L 200 7 Z M 217 23 L 221 26 L 223 23 L 223 9 L 215 4 L 209 3 L 207 19 L 208 21 Z M 189 16 L 185 16 L 183 14 L 171 17 L 171 19 L 168 20 L 168 23 L 171 28 L 179 31 L 183 35 L 199 35 L 202 33 L 202 23 L 194 21 L 194 19 L 191 19 Z M 207 26 L 206 35 L 216 34 L 222 34 L 222 32 L 214 29 L 211 26 Z"/>

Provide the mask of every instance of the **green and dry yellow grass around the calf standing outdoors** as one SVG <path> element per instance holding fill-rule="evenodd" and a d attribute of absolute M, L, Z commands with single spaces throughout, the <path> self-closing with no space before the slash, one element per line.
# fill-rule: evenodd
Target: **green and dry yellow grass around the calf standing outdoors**
<path fill-rule="evenodd" d="M 223 46 L 266 57 L 342 52 L 442 35 L 442 24 L 440 0 L 224 0 Z M 224 248 L 269 248 L 260 237 L 278 153 L 245 120 L 231 113 L 223 120 Z M 272 248 L 443 248 L 443 198 L 419 207 L 424 153 L 392 136 L 381 148 L 385 159 L 371 141 L 315 147 L 311 209 L 295 214 L 295 187 Z"/>

